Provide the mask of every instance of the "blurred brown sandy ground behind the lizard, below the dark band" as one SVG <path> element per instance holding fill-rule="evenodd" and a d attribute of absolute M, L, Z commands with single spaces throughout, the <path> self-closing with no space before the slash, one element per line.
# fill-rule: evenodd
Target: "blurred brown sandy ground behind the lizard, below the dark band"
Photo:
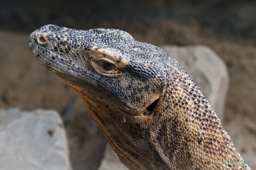
<path fill-rule="evenodd" d="M 129 32 L 154 45 L 197 45 L 212 48 L 227 64 L 230 88 L 223 127 L 245 161 L 256 169 L 256 45 L 250 38 L 216 34 L 195 20 L 111 20 L 97 28 Z M 73 89 L 40 66 L 28 47 L 29 34 L 0 30 L 0 108 L 54 109 L 71 113 L 66 129 L 74 170 L 97 169 L 106 140 Z M 192 77 L 193 78 L 193 77 Z M 218 114 L 218 113 L 217 113 Z"/>

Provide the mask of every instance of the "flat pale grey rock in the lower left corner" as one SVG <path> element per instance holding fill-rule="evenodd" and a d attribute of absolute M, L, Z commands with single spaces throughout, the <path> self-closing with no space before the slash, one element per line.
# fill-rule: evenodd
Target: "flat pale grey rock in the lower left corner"
<path fill-rule="evenodd" d="M 71 170 L 59 114 L 0 109 L 0 169 Z"/>

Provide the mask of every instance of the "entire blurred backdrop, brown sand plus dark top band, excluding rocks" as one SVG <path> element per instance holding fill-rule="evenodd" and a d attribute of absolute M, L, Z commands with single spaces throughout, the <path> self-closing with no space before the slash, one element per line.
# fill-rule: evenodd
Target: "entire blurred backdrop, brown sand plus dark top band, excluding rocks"
<path fill-rule="evenodd" d="M 74 90 L 30 54 L 29 34 L 46 24 L 120 29 L 156 46 L 209 46 L 230 75 L 221 122 L 256 168 L 256 1 L 0 1 L 0 108 L 57 110 L 73 169 L 97 169 L 106 140 L 96 122 Z"/>

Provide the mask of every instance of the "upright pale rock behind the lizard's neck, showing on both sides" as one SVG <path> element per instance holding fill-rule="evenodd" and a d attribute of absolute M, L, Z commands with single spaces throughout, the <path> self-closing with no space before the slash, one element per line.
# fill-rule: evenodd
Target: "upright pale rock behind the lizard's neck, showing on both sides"
<path fill-rule="evenodd" d="M 228 70 L 224 61 L 207 46 L 160 46 L 170 57 L 176 59 L 190 78 L 204 92 L 216 114 L 223 122 L 223 111 L 229 84 Z M 98 170 L 128 170 L 107 144 Z"/>

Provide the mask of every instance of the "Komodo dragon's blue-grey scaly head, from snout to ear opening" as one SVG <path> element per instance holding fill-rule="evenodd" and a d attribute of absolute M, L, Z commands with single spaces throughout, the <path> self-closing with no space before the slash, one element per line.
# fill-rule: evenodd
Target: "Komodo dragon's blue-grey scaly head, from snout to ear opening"
<path fill-rule="evenodd" d="M 31 33 L 29 47 L 42 66 L 91 106 L 103 102 L 130 114 L 150 114 L 166 84 L 167 55 L 121 30 L 45 25 Z"/>

